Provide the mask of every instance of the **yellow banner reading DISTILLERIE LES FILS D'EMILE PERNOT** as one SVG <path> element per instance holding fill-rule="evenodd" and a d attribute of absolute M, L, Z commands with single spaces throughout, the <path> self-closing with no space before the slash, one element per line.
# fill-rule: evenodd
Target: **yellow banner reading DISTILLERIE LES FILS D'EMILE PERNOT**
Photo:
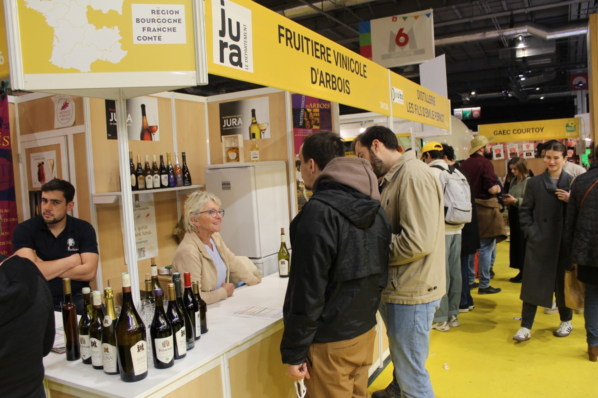
<path fill-rule="evenodd" d="M 390 72 L 392 117 L 441 129 L 450 128 L 450 100 Z"/>

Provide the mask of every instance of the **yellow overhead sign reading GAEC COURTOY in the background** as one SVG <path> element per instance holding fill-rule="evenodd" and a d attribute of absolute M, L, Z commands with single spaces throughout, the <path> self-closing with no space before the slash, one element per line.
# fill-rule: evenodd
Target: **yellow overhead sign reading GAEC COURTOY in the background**
<path fill-rule="evenodd" d="M 481 124 L 478 131 L 481 135 L 493 137 L 497 143 L 578 138 L 579 118 Z"/>

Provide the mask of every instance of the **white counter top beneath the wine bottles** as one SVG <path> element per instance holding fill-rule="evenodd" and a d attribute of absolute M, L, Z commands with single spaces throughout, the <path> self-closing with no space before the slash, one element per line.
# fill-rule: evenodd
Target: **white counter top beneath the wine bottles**
<path fill-rule="evenodd" d="M 235 289 L 232 297 L 208 306 L 208 333 L 187 351 L 187 356 L 176 360 L 169 369 L 148 366 L 148 376 L 138 382 L 124 382 L 119 375 L 106 375 L 103 371 L 84 365 L 81 360 L 67 362 L 64 354 L 50 353 L 44 358 L 45 378 L 89 393 L 113 398 L 142 398 L 181 380 L 196 369 L 218 359 L 222 354 L 272 329 L 282 327 L 282 319 L 253 319 L 229 316 L 231 312 L 248 306 L 282 308 L 288 278 L 278 274 L 265 277 L 255 286 Z M 57 316 L 56 326 L 62 325 Z"/>

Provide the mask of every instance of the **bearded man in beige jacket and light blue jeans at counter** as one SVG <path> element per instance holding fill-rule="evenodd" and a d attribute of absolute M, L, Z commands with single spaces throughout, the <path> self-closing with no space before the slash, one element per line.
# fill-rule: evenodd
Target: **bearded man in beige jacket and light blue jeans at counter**
<path fill-rule="evenodd" d="M 396 135 L 386 127 L 368 128 L 353 146 L 383 177 L 380 201 L 392 226 L 380 314 L 400 390 L 391 383 L 373 397 L 434 397 L 425 365 L 432 319 L 446 292 L 443 190 L 415 151 L 398 152 Z"/>

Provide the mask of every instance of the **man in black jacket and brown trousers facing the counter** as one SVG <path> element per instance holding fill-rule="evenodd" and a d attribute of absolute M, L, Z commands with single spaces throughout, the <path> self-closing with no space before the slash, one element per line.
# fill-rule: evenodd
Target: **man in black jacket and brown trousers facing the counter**
<path fill-rule="evenodd" d="M 369 162 L 344 158 L 343 140 L 329 131 L 309 135 L 300 159 L 314 193 L 290 227 L 282 362 L 306 379 L 307 397 L 368 397 L 391 235 L 377 178 Z"/>

